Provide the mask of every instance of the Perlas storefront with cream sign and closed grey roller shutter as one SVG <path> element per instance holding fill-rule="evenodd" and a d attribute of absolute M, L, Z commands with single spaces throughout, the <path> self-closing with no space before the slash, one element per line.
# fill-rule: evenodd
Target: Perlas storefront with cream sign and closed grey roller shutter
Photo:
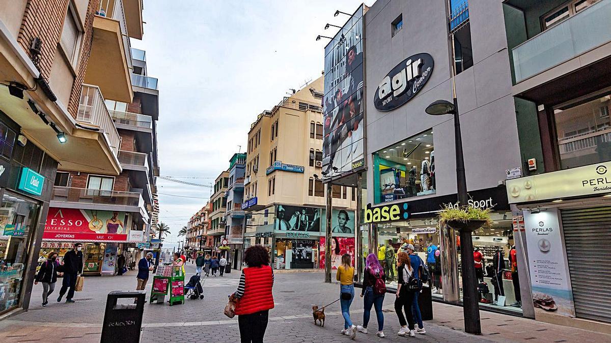
<path fill-rule="evenodd" d="M 507 181 L 524 215 L 537 320 L 611 332 L 610 170 L 598 162 Z"/>

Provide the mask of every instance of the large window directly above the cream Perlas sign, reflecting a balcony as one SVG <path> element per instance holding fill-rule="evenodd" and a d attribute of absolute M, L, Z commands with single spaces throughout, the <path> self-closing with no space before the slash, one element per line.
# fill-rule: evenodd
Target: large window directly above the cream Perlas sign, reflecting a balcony
<path fill-rule="evenodd" d="M 611 95 L 554 108 L 560 168 L 611 160 Z"/>

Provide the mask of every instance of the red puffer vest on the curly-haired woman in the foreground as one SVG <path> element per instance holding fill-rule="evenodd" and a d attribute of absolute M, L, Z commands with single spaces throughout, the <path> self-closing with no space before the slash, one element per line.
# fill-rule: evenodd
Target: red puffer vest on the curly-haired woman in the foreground
<path fill-rule="evenodd" d="M 244 295 L 238 301 L 235 314 L 252 314 L 274 308 L 274 296 L 271 287 L 274 284 L 271 267 L 244 268 Z"/>

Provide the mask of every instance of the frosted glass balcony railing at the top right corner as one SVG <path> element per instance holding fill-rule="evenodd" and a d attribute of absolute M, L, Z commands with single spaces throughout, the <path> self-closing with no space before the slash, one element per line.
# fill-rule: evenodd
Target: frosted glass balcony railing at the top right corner
<path fill-rule="evenodd" d="M 611 0 L 550 27 L 513 49 L 516 82 L 523 81 L 611 41 Z"/>

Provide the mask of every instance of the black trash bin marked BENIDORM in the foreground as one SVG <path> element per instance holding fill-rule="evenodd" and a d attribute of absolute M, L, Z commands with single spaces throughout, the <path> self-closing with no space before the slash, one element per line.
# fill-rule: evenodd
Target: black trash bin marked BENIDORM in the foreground
<path fill-rule="evenodd" d="M 140 342 L 142 313 L 146 291 L 112 291 L 106 298 L 106 311 L 100 342 Z M 120 298 L 133 299 L 134 303 L 117 304 Z"/>

